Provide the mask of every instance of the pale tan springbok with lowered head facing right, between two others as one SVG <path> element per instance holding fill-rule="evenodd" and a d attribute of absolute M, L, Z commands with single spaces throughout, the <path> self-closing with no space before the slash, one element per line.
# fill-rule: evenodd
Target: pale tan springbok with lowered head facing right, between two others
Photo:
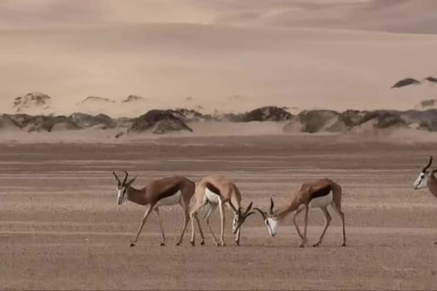
<path fill-rule="evenodd" d="M 197 218 L 197 212 L 201 210 L 204 206 L 209 205 L 206 211 L 205 219 L 206 224 L 212 234 L 214 243 L 218 246 L 219 243 L 214 234 L 211 224 L 209 223 L 209 218 L 211 213 L 218 207 L 220 210 L 221 218 L 221 232 L 220 232 L 220 245 L 225 246 L 224 242 L 224 223 L 225 223 L 225 204 L 229 205 L 234 211 L 234 221 L 232 231 L 235 234 L 235 243 L 240 244 L 241 236 L 241 225 L 244 223 L 246 218 L 252 215 L 254 212 L 250 212 L 252 209 L 252 203 L 249 204 L 245 211 L 241 208 L 241 193 L 237 186 L 229 181 L 228 179 L 221 176 L 207 176 L 202 178 L 196 187 L 196 204 L 191 211 L 191 244 L 194 246 L 195 242 L 195 229 L 194 229 L 194 219 Z M 199 225 L 199 231 L 202 237 L 201 245 L 205 243 L 205 238 L 201 226 Z"/>

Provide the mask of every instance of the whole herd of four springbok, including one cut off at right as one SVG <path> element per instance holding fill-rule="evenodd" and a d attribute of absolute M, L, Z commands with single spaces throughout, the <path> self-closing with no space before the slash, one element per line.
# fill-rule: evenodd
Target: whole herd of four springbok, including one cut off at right
<path fill-rule="evenodd" d="M 433 162 L 433 157 L 430 157 L 429 163 L 422 169 L 419 177 L 414 182 L 414 189 L 428 188 L 429 192 L 437 197 L 437 178 L 435 177 L 436 170 L 428 171 Z M 242 207 L 242 197 L 235 183 L 231 182 L 227 178 L 221 176 L 207 176 L 196 185 L 193 181 L 182 176 L 173 176 L 152 181 L 146 187 L 138 190 L 132 187 L 135 178 L 128 181 L 129 174 L 125 172 L 123 181 L 120 180 L 116 172 L 113 172 L 114 177 L 117 180 L 117 202 L 118 205 L 123 204 L 126 200 L 134 202 L 139 205 L 149 206 L 141 221 L 141 225 L 138 232 L 131 242 L 131 246 L 134 246 L 138 242 L 141 230 L 146 223 L 147 218 L 153 212 L 159 223 L 159 227 L 162 233 L 161 245 L 165 245 L 166 237 L 162 226 L 162 220 L 159 212 L 161 206 L 173 206 L 179 204 L 184 210 L 184 226 L 177 242 L 177 245 L 182 243 L 185 230 L 188 226 L 188 222 L 191 220 L 191 244 L 195 245 L 195 223 L 199 227 L 199 233 L 201 236 L 201 245 L 205 244 L 205 237 L 203 235 L 202 227 L 198 217 L 198 211 L 202 208 L 206 208 L 204 219 L 206 225 L 212 234 L 214 243 L 219 246 L 225 246 L 224 242 L 224 224 L 225 224 L 225 206 L 229 206 L 234 212 L 234 220 L 232 231 L 235 234 L 235 243 L 240 244 L 241 227 L 246 219 L 255 213 L 254 210 L 259 212 L 266 224 L 270 236 L 276 236 L 278 232 L 278 225 L 288 214 L 293 213 L 293 224 L 296 227 L 302 242 L 300 247 L 306 245 L 306 234 L 308 228 L 308 213 L 310 209 L 319 208 L 325 217 L 325 226 L 320 235 L 319 242 L 313 246 L 317 247 L 321 244 L 323 237 L 331 223 L 331 215 L 328 211 L 328 207 L 331 207 L 336 211 L 341 219 L 343 228 L 343 242 L 342 246 L 346 246 L 346 232 L 344 213 L 341 210 L 341 193 L 342 189 L 335 181 L 324 178 L 310 183 L 304 183 L 300 190 L 296 193 L 289 195 L 286 202 L 275 209 L 273 199 L 270 198 L 270 206 L 268 211 L 261 210 L 259 208 L 252 208 L 252 202 L 246 209 Z M 192 198 L 195 198 L 194 207 L 190 210 L 190 202 Z M 210 225 L 209 218 L 214 210 L 220 211 L 221 218 L 221 230 L 220 238 L 217 240 L 214 231 Z M 304 211 L 304 229 L 303 234 L 299 226 L 296 224 L 296 217 Z M 436 242 L 437 244 L 437 242 Z"/>

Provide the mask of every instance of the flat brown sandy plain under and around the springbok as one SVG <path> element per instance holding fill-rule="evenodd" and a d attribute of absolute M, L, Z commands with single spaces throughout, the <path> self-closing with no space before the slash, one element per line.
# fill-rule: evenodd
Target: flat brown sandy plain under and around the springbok
<path fill-rule="evenodd" d="M 435 290 L 437 201 L 411 185 L 435 144 L 351 143 L 336 137 L 186 137 L 124 145 L 0 145 L 0 289 Z M 233 178 L 247 205 L 276 203 L 304 181 L 344 188 L 348 247 L 338 218 L 322 247 L 298 248 L 287 219 L 269 238 L 259 216 L 242 246 L 174 246 L 178 208 L 162 210 L 166 247 L 152 217 L 129 247 L 144 208 L 116 205 L 113 169 L 136 182 L 173 174 Z M 323 225 L 310 217 L 310 242 Z M 218 230 L 217 214 L 215 229 Z M 190 231 L 190 230 L 189 230 Z M 199 241 L 198 241 L 199 242 Z"/>

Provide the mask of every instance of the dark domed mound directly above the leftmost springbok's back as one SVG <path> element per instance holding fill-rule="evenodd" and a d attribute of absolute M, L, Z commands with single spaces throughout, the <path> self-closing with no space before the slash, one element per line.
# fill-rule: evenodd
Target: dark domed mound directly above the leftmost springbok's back
<path fill-rule="evenodd" d="M 129 133 L 151 132 L 163 134 L 177 131 L 193 130 L 184 121 L 174 116 L 172 113 L 163 110 L 151 110 L 148 113 L 135 118 L 129 128 Z"/>

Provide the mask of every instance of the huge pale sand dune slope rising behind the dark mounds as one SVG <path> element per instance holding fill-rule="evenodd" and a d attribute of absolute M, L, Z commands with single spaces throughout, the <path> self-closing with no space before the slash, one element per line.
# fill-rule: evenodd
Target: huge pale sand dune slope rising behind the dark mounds
<path fill-rule="evenodd" d="M 437 75 L 437 38 L 420 34 L 437 27 L 435 6 L 428 0 L 2 1 L 0 106 L 8 113 L 15 97 L 40 91 L 58 104 L 56 114 L 79 111 L 77 102 L 87 96 L 147 98 L 141 106 L 80 109 L 115 117 L 195 106 L 410 109 L 435 98 L 436 87 L 390 86 Z"/>

